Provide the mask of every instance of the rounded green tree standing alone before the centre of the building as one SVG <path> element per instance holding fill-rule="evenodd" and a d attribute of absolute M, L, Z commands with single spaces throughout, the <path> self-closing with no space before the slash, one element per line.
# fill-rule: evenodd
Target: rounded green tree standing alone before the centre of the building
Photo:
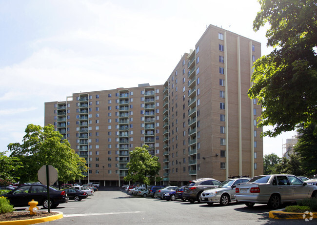
<path fill-rule="evenodd" d="M 150 184 L 150 179 L 154 180 L 160 170 L 157 156 L 151 156 L 146 148 L 149 146 L 143 145 L 136 147 L 130 152 L 130 162 L 127 164 L 128 175 L 124 178 L 126 182 L 140 182 L 145 185 Z"/>

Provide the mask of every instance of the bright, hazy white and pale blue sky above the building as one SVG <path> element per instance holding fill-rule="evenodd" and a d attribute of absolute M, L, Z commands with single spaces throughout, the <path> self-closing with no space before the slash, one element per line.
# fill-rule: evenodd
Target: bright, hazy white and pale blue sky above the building
<path fill-rule="evenodd" d="M 268 54 L 266 28 L 252 30 L 259 9 L 257 0 L 0 0 L 0 151 L 27 124 L 44 125 L 44 102 L 163 84 L 209 24 Z M 264 138 L 264 154 L 281 156 L 294 135 Z"/>

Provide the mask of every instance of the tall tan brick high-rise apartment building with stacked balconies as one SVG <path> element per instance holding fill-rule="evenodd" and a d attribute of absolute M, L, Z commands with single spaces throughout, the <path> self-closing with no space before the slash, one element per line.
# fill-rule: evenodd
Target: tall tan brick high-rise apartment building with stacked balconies
<path fill-rule="evenodd" d="M 86 180 L 104 185 L 123 183 L 129 151 L 143 144 L 159 157 L 163 184 L 263 174 L 261 107 L 247 95 L 260 47 L 210 25 L 164 84 L 45 102 L 45 124 L 86 159 Z"/>

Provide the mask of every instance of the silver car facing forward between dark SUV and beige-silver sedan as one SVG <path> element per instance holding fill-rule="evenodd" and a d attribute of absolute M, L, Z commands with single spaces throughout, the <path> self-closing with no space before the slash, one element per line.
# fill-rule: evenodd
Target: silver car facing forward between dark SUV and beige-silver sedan
<path fill-rule="evenodd" d="M 200 195 L 200 202 L 213 205 L 220 203 L 220 205 L 228 205 L 232 201 L 236 201 L 236 185 L 246 183 L 249 178 L 229 179 L 222 182 L 217 188 L 203 191 Z"/>

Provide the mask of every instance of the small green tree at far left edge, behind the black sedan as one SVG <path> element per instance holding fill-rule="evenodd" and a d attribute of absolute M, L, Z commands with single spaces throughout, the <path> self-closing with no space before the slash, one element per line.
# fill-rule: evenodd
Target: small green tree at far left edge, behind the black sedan
<path fill-rule="evenodd" d="M 5 153 L 0 152 L 0 185 L 6 186 L 20 179 L 15 171 L 23 166 L 17 157 L 7 157 Z"/>

